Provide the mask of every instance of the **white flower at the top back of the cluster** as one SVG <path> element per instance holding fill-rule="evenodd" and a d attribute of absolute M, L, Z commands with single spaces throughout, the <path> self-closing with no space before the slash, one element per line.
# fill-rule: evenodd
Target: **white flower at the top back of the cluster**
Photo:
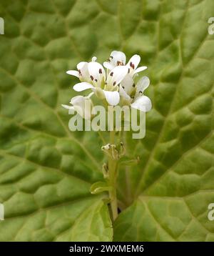
<path fill-rule="evenodd" d="M 122 51 L 112 51 L 108 61 L 103 62 L 103 66 L 106 67 L 106 69 L 112 70 L 116 66 L 124 66 L 126 64 L 128 74 L 133 77 L 138 72 L 147 69 L 146 66 L 138 67 L 140 61 L 141 57 L 135 54 L 126 64 L 126 55 Z"/>

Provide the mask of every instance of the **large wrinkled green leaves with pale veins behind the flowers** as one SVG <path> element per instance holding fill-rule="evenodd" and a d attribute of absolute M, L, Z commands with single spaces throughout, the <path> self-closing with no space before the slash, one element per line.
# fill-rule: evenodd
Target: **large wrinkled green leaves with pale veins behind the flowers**
<path fill-rule="evenodd" d="M 1 0 L 1 241 L 214 241 L 213 0 Z M 70 132 L 79 61 L 141 55 L 151 79 L 146 137 L 126 137 L 113 227 L 101 138 Z M 103 135 L 105 136 L 105 134 Z"/>

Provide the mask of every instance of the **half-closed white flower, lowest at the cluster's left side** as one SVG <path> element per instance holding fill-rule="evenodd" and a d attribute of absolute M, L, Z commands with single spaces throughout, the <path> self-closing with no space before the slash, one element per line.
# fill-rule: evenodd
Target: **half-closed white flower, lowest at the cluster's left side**
<path fill-rule="evenodd" d="M 91 92 L 91 94 L 88 94 L 88 96 L 86 97 L 78 95 L 71 99 L 70 104 L 72 104 L 72 106 L 62 104 L 62 107 L 64 107 L 65 109 L 68 109 L 69 111 L 71 109 L 75 110 L 84 119 L 91 119 L 91 106 L 92 106 L 91 96 L 92 95 L 93 95 L 93 92 Z"/>

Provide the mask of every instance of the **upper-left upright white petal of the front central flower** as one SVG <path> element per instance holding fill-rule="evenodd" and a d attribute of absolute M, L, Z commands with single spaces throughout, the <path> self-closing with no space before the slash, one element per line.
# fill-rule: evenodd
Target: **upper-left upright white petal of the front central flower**
<path fill-rule="evenodd" d="M 95 82 L 95 79 L 98 80 L 98 85 L 100 85 L 103 79 L 106 79 L 106 72 L 103 66 L 96 61 L 88 63 L 88 72 L 93 82 Z"/>

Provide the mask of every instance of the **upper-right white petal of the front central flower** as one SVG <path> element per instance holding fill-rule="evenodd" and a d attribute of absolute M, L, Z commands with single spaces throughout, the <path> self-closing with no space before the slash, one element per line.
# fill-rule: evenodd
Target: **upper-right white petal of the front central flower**
<path fill-rule="evenodd" d="M 128 67 L 117 66 L 109 72 L 106 82 L 108 85 L 116 86 L 126 77 L 126 74 L 128 74 Z"/>

